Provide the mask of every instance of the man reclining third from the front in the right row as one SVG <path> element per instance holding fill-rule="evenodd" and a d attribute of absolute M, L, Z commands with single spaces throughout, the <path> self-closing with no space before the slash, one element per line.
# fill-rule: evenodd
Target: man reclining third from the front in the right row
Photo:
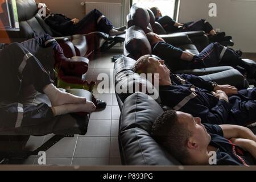
<path fill-rule="evenodd" d="M 223 65 L 240 66 L 246 70 L 248 77 L 255 77 L 256 65 L 247 64 L 232 49 L 219 43 L 211 43 L 199 55 L 166 43 L 155 33 L 148 33 L 147 38 L 152 47 L 152 54 L 166 61 L 173 72 L 181 69 L 209 68 Z"/>

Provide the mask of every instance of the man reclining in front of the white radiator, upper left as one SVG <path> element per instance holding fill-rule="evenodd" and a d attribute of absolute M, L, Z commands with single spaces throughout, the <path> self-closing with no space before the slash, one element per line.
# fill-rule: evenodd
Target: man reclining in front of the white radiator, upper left
<path fill-rule="evenodd" d="M 126 26 L 115 28 L 108 18 L 100 11 L 94 9 L 84 16 L 81 20 L 68 18 L 63 14 L 52 14 L 51 10 L 44 3 L 39 7 L 47 9 L 47 16 L 44 21 L 53 30 L 63 35 L 88 34 L 94 31 L 102 31 L 110 36 L 123 34 Z"/>

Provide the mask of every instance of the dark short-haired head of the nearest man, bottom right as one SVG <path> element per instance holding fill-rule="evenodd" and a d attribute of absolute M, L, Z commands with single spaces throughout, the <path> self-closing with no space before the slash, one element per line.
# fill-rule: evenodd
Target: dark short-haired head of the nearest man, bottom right
<path fill-rule="evenodd" d="M 191 114 L 164 112 L 152 125 L 152 137 L 183 164 L 203 164 L 209 159 L 210 135 L 201 119 Z"/>

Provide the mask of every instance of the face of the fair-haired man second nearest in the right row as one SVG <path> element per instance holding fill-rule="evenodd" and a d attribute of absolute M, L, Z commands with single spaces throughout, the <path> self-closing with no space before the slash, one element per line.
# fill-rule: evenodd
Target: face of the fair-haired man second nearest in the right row
<path fill-rule="evenodd" d="M 155 68 L 155 72 L 159 74 L 159 84 L 161 80 L 170 79 L 170 69 L 164 64 L 164 60 L 158 60 L 154 57 L 149 57 L 150 64 Z"/>

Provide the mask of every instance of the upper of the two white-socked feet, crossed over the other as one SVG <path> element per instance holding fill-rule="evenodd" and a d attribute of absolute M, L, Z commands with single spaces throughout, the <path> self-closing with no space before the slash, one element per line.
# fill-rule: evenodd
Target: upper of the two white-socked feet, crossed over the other
<path fill-rule="evenodd" d="M 49 84 L 43 89 L 44 93 L 49 97 L 52 106 L 59 106 L 63 104 L 82 104 L 86 103 L 86 98 L 77 97 L 70 93 L 63 92 L 56 88 L 55 85 Z"/>

